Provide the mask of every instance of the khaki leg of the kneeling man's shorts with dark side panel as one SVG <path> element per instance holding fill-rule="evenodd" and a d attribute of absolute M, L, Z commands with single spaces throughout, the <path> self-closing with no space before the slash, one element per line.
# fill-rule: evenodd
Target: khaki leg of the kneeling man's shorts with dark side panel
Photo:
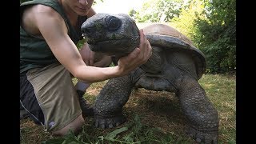
<path fill-rule="evenodd" d="M 60 130 L 82 114 L 70 72 L 64 66 L 56 63 L 29 70 L 26 77 L 42 110 L 44 130 Z"/>

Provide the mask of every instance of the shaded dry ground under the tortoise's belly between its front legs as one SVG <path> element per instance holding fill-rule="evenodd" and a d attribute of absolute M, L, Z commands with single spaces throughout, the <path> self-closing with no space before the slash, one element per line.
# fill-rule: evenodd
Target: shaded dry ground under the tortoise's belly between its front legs
<path fill-rule="evenodd" d="M 165 132 L 189 138 L 186 119 L 175 94 L 166 91 L 134 90 L 123 108 L 128 119 L 138 114 L 142 124 L 159 127 Z"/>

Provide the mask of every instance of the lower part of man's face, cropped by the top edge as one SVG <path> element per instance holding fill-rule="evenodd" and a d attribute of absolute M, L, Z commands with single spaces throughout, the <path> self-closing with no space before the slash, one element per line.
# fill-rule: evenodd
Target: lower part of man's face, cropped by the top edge
<path fill-rule="evenodd" d="M 94 0 L 68 0 L 67 2 L 75 13 L 85 16 L 88 14 Z"/>

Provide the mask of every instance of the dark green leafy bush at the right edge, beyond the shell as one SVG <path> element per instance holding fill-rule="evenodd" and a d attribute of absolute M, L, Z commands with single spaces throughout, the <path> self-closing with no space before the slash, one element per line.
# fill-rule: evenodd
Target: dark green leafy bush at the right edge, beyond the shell
<path fill-rule="evenodd" d="M 206 54 L 210 73 L 226 73 L 236 69 L 236 2 L 213 0 L 206 2 L 203 14 L 207 19 L 195 20 L 194 41 Z"/>

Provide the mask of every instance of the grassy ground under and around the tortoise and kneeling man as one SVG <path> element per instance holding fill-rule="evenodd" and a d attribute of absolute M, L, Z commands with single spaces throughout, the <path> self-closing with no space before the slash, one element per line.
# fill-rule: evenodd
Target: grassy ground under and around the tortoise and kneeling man
<path fill-rule="evenodd" d="M 236 143 L 236 77 L 204 74 L 199 82 L 218 110 L 218 143 Z M 86 91 L 86 100 L 94 102 L 105 83 L 92 84 Z M 78 136 L 70 131 L 61 138 L 44 132 L 30 119 L 23 119 L 20 124 L 21 143 L 194 143 L 185 133 L 186 120 L 174 94 L 134 90 L 123 110 L 127 122 L 121 126 L 101 130 L 93 126 L 93 118 L 86 118 Z"/>

